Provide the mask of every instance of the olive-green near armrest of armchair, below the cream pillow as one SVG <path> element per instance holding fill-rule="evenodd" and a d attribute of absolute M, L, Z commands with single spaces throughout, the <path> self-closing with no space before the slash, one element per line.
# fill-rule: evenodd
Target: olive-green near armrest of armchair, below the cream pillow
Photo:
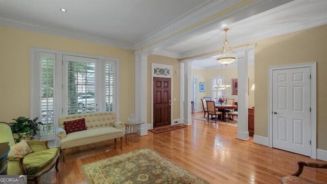
<path fill-rule="evenodd" d="M 8 158 L 8 175 L 26 175 L 27 169 L 23 164 L 24 156 L 17 156 L 15 158 Z"/>

